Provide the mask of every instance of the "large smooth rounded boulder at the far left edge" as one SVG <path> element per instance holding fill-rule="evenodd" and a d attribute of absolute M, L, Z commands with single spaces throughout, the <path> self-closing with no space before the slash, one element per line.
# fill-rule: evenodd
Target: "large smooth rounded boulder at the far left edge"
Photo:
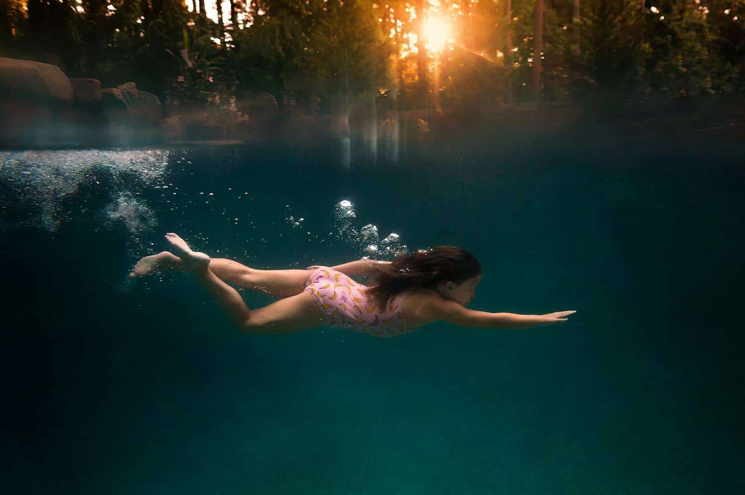
<path fill-rule="evenodd" d="M 73 92 L 70 80 L 57 66 L 0 57 L 0 95 L 72 102 Z"/>

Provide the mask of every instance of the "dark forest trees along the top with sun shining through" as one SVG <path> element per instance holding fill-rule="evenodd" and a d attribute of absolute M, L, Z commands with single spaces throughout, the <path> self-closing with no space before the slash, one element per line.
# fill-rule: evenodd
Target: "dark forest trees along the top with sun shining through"
<path fill-rule="evenodd" d="M 745 0 L 0 0 L 0 56 L 172 105 L 685 98 L 741 91 L 744 21 Z"/>

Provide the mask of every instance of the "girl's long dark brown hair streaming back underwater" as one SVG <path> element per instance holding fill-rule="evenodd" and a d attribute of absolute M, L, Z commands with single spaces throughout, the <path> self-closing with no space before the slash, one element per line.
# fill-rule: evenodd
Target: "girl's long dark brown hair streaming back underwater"
<path fill-rule="evenodd" d="M 400 255 L 391 264 L 373 265 L 365 275 L 377 275 L 378 285 L 367 290 L 376 305 L 410 289 L 433 289 L 441 281 L 461 284 L 481 275 L 481 265 L 465 249 L 455 246 L 437 246 L 429 251 Z"/>

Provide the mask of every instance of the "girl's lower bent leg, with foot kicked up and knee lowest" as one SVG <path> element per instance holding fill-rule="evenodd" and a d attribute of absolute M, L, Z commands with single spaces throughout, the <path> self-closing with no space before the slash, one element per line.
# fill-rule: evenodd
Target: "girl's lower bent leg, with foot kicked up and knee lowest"
<path fill-rule="evenodd" d="M 323 315 L 312 296 L 301 293 L 276 301 L 258 310 L 249 310 L 238 291 L 221 281 L 209 269 L 209 256 L 193 252 L 177 234 L 165 238 L 191 272 L 217 301 L 232 323 L 244 333 L 288 333 L 323 325 Z"/>

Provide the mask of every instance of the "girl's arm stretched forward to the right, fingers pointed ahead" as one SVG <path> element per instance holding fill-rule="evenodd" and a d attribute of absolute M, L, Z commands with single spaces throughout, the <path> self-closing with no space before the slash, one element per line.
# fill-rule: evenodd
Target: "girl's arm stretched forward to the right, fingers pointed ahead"
<path fill-rule="evenodd" d="M 553 325 L 566 322 L 567 317 L 577 311 L 558 311 L 545 315 L 519 315 L 516 313 L 488 313 L 469 310 L 455 301 L 431 299 L 422 308 L 434 320 L 475 328 L 528 328 L 538 325 Z"/>

